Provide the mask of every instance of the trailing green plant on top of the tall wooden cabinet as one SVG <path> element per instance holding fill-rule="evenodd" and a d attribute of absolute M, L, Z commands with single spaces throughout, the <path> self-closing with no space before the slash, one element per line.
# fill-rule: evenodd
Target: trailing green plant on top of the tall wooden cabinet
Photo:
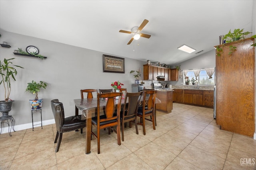
<path fill-rule="evenodd" d="M 224 45 L 231 43 L 233 41 L 238 41 L 240 40 L 242 42 L 243 39 L 245 39 L 246 35 L 250 34 L 251 32 L 243 32 L 244 29 L 234 29 L 234 32 L 231 32 L 231 30 L 229 30 L 229 32 L 223 36 L 224 39 Z M 252 35 L 251 38 L 256 38 L 256 35 Z M 222 47 L 224 47 L 224 45 L 222 45 Z M 252 44 L 251 46 L 256 46 L 256 43 Z M 216 46 L 216 55 L 220 56 L 223 53 L 223 49 L 222 47 Z M 236 51 L 236 47 L 233 45 L 229 46 L 229 53 L 228 55 L 232 55 L 232 53 Z"/>

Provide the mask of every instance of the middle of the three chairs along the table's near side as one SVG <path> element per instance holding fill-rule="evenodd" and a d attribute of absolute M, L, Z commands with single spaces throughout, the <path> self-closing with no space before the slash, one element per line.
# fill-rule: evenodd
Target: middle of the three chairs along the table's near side
<path fill-rule="evenodd" d="M 133 121 L 135 123 L 136 134 L 139 134 L 137 126 L 137 112 L 141 96 L 142 92 L 126 93 L 124 103 L 126 104 L 128 100 L 128 104 L 124 104 L 122 106 L 123 109 L 120 115 L 120 121 L 122 124 L 122 141 L 124 141 L 124 123 L 126 122 L 129 122 L 129 127 L 131 128 L 131 122 Z"/>

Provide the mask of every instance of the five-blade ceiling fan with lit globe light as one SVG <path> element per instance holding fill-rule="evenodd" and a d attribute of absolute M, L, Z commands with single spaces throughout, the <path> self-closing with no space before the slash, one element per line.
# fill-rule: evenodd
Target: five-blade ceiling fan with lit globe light
<path fill-rule="evenodd" d="M 144 20 L 141 24 L 140 24 L 140 27 L 133 27 L 132 28 L 132 31 L 124 31 L 124 30 L 120 30 L 119 32 L 120 33 L 128 33 L 128 34 L 132 34 L 134 35 L 132 37 L 132 39 L 130 39 L 130 41 L 128 42 L 127 45 L 129 45 L 133 39 L 139 39 L 140 37 L 144 37 L 144 38 L 150 38 L 151 35 L 148 35 L 148 34 L 143 34 L 143 33 L 140 33 L 140 31 L 145 27 L 145 25 L 148 23 L 148 20 Z"/>

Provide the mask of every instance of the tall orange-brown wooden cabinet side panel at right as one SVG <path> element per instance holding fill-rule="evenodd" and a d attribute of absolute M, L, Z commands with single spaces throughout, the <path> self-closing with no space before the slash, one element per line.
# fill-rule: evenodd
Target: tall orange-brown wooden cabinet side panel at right
<path fill-rule="evenodd" d="M 219 45 L 216 55 L 216 123 L 220 129 L 253 137 L 255 131 L 254 39 Z M 232 55 L 229 46 L 236 47 Z M 217 51 L 216 51 L 217 53 Z"/>

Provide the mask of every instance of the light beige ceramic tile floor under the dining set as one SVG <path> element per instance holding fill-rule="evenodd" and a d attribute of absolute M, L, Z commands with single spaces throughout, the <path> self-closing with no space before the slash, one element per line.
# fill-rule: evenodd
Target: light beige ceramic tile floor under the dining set
<path fill-rule="evenodd" d="M 213 109 L 173 107 L 157 111 L 156 130 L 146 121 L 146 135 L 140 125 L 139 135 L 127 127 L 120 146 L 116 133 L 102 130 L 100 154 L 94 137 L 85 154 L 85 133 L 75 131 L 63 134 L 55 153 L 55 124 L 1 134 L 0 170 L 256 170 L 256 140 L 220 130 Z"/>

